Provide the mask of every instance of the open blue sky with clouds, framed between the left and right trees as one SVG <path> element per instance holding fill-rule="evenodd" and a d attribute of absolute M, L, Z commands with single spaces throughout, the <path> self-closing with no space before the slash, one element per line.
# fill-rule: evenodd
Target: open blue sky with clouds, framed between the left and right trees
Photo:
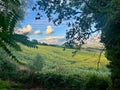
<path fill-rule="evenodd" d="M 26 10 L 24 20 L 20 21 L 21 27 L 16 27 L 16 33 L 28 33 L 30 39 L 36 39 L 48 44 L 63 44 L 65 42 L 65 33 L 68 28 L 66 23 L 55 26 L 43 12 L 41 19 L 35 20 L 38 11 L 32 11 L 32 8 Z"/>

